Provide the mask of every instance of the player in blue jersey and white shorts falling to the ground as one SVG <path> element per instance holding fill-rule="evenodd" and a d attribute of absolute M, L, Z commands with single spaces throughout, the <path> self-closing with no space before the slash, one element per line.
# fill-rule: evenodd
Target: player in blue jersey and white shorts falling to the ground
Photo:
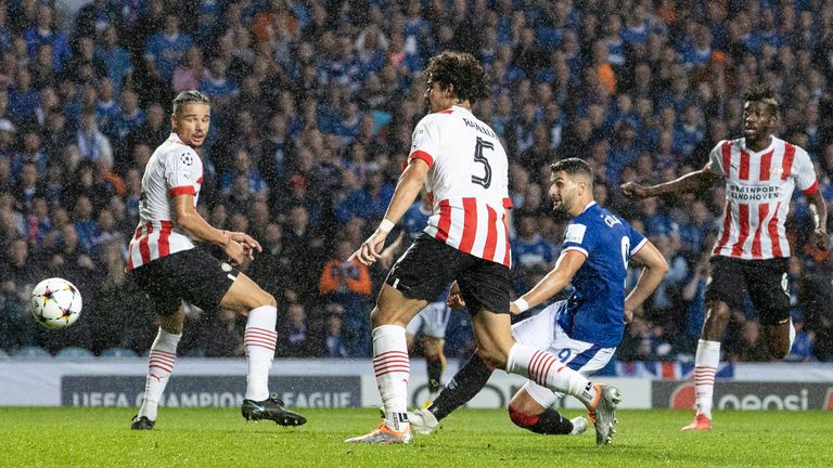
<path fill-rule="evenodd" d="M 593 174 L 585 160 L 555 162 L 551 182 L 554 210 L 573 218 L 564 233 L 563 250 L 555 268 L 515 300 L 511 311 L 517 314 L 536 307 L 571 283 L 574 291 L 567 300 L 516 323 L 512 335 L 517 342 L 548 350 L 567 367 L 589 376 L 611 360 L 621 341 L 625 323 L 653 294 L 668 265 L 644 236 L 595 204 Z M 644 269 L 626 297 L 625 277 L 631 260 Z M 464 304 L 457 301 L 456 306 Z M 409 415 L 411 428 L 431 433 L 440 419 L 477 394 L 491 372 L 475 353 L 427 410 Z M 584 417 L 569 420 L 552 408 L 561 398 L 527 380 L 509 403 L 510 417 L 533 432 L 580 434 L 587 428 Z"/>

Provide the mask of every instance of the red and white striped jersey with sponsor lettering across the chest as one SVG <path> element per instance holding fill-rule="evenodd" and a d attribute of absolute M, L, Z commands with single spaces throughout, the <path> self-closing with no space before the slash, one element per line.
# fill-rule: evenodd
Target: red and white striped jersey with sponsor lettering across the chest
<path fill-rule="evenodd" d="M 784 220 L 793 191 L 819 190 L 807 152 L 774 136 L 760 152 L 747 148 L 745 139 L 725 140 L 712 150 L 706 169 L 726 180 L 726 209 L 712 255 L 790 257 Z"/>

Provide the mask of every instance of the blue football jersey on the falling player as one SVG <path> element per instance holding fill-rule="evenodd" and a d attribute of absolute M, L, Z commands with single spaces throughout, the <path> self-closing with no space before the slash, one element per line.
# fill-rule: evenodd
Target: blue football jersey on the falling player
<path fill-rule="evenodd" d="M 573 277 L 567 308 L 558 318 L 571 338 L 605 348 L 619 346 L 628 261 L 646 242 L 595 202 L 567 224 L 563 251 L 578 250 L 587 257 Z"/>

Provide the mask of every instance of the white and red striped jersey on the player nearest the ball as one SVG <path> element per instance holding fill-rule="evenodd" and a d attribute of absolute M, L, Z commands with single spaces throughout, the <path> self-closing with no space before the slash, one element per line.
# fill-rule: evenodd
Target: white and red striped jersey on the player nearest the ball
<path fill-rule="evenodd" d="M 127 269 L 194 248 L 191 237 L 174 223 L 171 198 L 193 195 L 194 206 L 203 183 L 203 161 L 194 148 L 171 133 L 153 152 L 142 177 L 139 226 L 128 247 Z"/>

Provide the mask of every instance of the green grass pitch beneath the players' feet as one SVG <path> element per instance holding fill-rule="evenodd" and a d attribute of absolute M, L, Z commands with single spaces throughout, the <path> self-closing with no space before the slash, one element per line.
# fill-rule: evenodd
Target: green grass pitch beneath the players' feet
<path fill-rule="evenodd" d="M 537 435 L 502 411 L 462 410 L 412 445 L 348 445 L 379 422 L 372 410 L 307 410 L 284 429 L 236 410 L 162 408 L 154 431 L 128 429 L 131 408 L 0 408 L 0 467 L 831 467 L 833 414 L 720 412 L 683 433 L 684 412 L 623 411 L 613 446 Z M 575 416 L 575 412 L 567 412 Z"/>

